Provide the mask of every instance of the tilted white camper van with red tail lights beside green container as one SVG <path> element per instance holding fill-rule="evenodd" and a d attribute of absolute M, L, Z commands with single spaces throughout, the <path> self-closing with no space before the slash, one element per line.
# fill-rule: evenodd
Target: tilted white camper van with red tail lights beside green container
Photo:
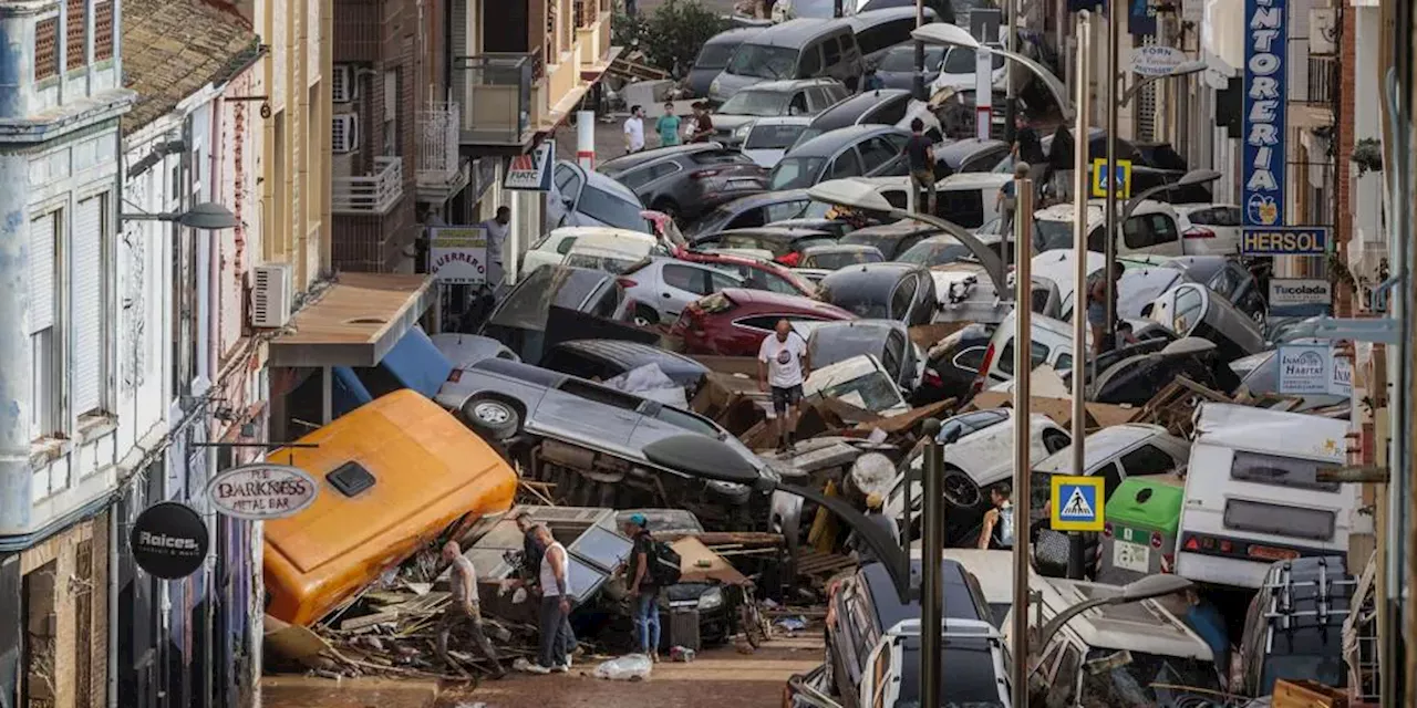
<path fill-rule="evenodd" d="M 1275 561 L 1348 554 L 1349 534 L 1366 521 L 1357 486 L 1318 481 L 1319 469 L 1343 464 L 1346 433 L 1345 421 L 1202 404 L 1176 573 L 1260 588 Z"/>

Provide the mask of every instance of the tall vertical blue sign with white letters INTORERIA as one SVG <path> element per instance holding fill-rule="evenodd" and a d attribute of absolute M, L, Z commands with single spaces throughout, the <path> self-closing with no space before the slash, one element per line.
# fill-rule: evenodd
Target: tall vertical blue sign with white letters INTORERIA
<path fill-rule="evenodd" d="M 1244 205 L 1246 227 L 1284 222 L 1287 0 L 1244 4 Z"/>

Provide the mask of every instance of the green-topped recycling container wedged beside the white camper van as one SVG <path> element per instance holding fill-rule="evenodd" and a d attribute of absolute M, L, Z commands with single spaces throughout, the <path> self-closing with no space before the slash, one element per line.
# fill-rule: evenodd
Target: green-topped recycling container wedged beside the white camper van
<path fill-rule="evenodd" d="M 1185 481 L 1175 474 L 1122 480 L 1107 500 L 1098 581 L 1124 585 L 1172 572 L 1185 497 Z"/>

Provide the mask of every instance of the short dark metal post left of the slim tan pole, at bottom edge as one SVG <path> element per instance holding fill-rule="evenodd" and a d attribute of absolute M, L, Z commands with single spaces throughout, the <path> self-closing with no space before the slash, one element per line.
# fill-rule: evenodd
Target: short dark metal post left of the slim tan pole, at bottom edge
<path fill-rule="evenodd" d="M 928 422 L 927 422 L 928 423 Z M 945 496 L 939 489 L 944 474 L 944 449 L 939 445 L 939 422 L 925 425 L 925 483 L 924 483 L 924 552 L 920 558 L 920 705 L 939 705 L 941 612 L 944 588 L 939 564 L 945 547 Z"/>

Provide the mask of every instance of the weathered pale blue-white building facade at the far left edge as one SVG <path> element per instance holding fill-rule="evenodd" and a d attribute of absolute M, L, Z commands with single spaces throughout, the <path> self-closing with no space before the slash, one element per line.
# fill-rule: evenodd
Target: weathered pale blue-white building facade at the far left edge
<path fill-rule="evenodd" d="M 0 705 L 98 707 L 111 675 L 119 0 L 0 3 Z"/>

